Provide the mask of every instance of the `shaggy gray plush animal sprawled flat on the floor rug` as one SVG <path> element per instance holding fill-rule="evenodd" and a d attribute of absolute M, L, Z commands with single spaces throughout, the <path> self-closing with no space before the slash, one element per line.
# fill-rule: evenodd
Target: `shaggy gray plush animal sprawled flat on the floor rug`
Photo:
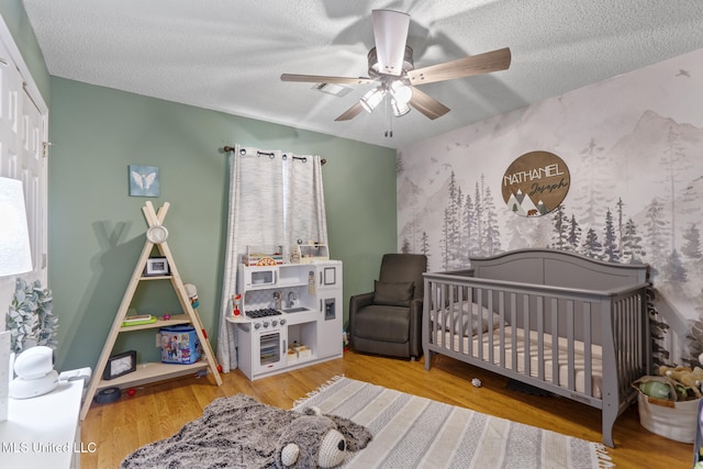
<path fill-rule="evenodd" d="M 370 440 L 369 431 L 348 418 L 236 394 L 214 400 L 202 417 L 132 453 L 121 468 L 331 468 Z"/>

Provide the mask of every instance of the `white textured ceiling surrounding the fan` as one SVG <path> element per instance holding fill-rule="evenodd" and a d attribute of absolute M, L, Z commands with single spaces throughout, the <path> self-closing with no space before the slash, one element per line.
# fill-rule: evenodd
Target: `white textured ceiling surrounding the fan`
<path fill-rule="evenodd" d="M 49 74 L 399 148 L 703 47 L 700 0 L 24 0 Z M 370 12 L 411 14 L 415 68 L 510 47 L 510 69 L 422 86 L 451 111 L 335 118 L 282 72 L 368 76 Z M 393 136 L 386 131 L 392 129 Z M 246 142 L 243 142 L 246 144 Z"/>

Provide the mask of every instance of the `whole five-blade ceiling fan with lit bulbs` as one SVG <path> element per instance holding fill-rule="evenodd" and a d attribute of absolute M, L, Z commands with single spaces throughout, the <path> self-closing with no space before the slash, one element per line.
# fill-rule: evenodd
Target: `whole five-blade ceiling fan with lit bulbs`
<path fill-rule="evenodd" d="M 405 115 L 412 107 L 434 120 L 449 112 L 449 108 L 422 92 L 416 86 L 505 70 L 510 67 L 510 48 L 504 47 L 414 69 L 413 49 L 406 44 L 410 15 L 393 10 L 373 10 L 371 18 L 376 47 L 368 53 L 368 78 L 282 74 L 281 80 L 339 85 L 377 83 L 335 121 L 348 121 L 362 110 L 372 112 L 387 96 L 390 96 L 395 116 Z"/>

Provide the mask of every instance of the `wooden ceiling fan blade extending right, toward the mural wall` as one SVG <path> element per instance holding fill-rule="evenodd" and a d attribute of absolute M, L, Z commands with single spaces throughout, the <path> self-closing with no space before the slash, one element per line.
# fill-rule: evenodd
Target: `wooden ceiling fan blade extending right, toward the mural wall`
<path fill-rule="evenodd" d="M 470 55 L 457 60 L 444 64 L 431 65 L 408 71 L 408 78 L 412 85 L 433 83 L 435 81 L 451 80 L 455 78 L 471 77 L 473 75 L 489 74 L 491 71 L 505 70 L 510 67 L 510 48 L 487 52 L 479 55 Z"/>

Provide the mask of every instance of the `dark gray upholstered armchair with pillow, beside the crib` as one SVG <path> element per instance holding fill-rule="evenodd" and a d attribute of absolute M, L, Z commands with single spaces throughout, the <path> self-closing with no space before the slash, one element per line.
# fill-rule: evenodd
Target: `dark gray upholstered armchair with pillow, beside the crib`
<path fill-rule="evenodd" d="M 349 340 L 356 351 L 391 357 L 422 356 L 421 254 L 386 254 L 373 292 L 349 299 Z"/>

